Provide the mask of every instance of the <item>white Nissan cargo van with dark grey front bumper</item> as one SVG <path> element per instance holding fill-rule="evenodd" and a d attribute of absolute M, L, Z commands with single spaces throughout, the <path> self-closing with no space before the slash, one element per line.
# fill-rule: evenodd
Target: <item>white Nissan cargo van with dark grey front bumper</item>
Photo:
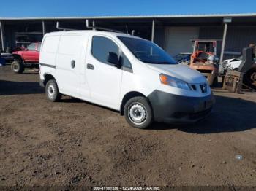
<path fill-rule="evenodd" d="M 174 61 L 146 39 L 108 31 L 46 34 L 40 85 L 50 101 L 70 95 L 124 114 L 129 125 L 195 122 L 214 98 L 200 72 Z"/>

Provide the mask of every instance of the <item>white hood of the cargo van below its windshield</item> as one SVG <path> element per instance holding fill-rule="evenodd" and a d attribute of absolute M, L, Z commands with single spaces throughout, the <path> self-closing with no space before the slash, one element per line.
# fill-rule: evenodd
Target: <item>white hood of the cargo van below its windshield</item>
<path fill-rule="evenodd" d="M 147 64 L 148 68 L 158 71 L 162 74 L 170 75 L 182 79 L 189 84 L 206 83 L 206 77 L 204 77 L 199 71 L 190 69 L 183 64 Z"/>

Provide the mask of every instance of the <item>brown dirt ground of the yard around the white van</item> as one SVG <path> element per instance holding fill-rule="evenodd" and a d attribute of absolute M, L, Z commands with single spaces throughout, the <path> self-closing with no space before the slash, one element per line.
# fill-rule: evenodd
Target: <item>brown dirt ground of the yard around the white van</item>
<path fill-rule="evenodd" d="M 0 186 L 256 186 L 256 93 L 215 89 L 205 120 L 139 130 L 38 80 L 0 68 Z"/>

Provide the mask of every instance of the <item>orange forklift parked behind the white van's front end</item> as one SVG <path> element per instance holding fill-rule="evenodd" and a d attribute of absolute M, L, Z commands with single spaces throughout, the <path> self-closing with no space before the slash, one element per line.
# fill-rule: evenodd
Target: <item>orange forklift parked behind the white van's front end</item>
<path fill-rule="evenodd" d="M 219 58 L 217 56 L 217 41 L 214 39 L 193 39 L 193 53 L 189 67 L 200 71 L 211 87 L 217 86 Z"/>

